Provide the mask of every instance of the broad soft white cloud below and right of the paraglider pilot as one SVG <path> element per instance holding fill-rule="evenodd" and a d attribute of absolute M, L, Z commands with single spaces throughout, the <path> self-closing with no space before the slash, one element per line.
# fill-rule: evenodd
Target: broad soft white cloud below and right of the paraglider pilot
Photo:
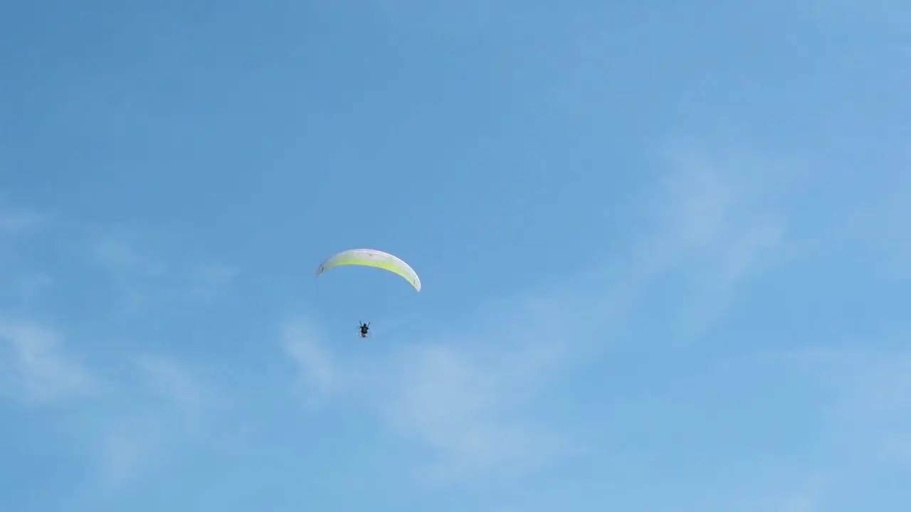
<path fill-rule="evenodd" d="M 415 344 L 374 386 L 387 425 L 435 450 L 430 475 L 513 476 L 568 453 L 570 440 L 539 425 L 532 405 L 548 384 L 546 358 L 479 346 L 496 335 L 453 341 Z"/>

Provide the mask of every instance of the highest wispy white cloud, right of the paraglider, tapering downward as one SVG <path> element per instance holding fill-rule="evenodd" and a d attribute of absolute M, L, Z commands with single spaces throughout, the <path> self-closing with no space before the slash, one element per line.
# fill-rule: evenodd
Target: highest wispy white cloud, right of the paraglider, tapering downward
<path fill-rule="evenodd" d="M 787 257 L 787 212 L 777 195 L 788 185 L 771 171 L 757 176 L 773 164 L 758 166 L 761 159 L 743 153 L 678 144 L 662 154 L 670 170 L 646 201 L 650 229 L 633 242 L 623 261 L 625 276 L 604 293 L 622 312 L 621 322 L 648 304 L 651 316 L 660 314 L 667 325 L 662 336 L 698 339 L 722 319 L 753 275 Z M 659 304 L 644 301 L 658 288 L 689 299 L 659 311 Z"/>

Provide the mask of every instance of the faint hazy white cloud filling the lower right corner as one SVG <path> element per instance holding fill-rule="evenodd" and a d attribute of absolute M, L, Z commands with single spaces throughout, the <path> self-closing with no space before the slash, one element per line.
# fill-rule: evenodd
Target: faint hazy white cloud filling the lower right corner
<path fill-rule="evenodd" d="M 774 353 L 777 374 L 796 377 L 804 393 L 813 391 L 807 404 L 818 412 L 812 443 L 823 449 L 809 459 L 783 459 L 779 473 L 791 478 L 755 485 L 722 509 L 803 512 L 834 509 L 845 497 L 875 501 L 871 482 L 911 468 L 911 352 L 888 344 L 830 341 Z"/>

